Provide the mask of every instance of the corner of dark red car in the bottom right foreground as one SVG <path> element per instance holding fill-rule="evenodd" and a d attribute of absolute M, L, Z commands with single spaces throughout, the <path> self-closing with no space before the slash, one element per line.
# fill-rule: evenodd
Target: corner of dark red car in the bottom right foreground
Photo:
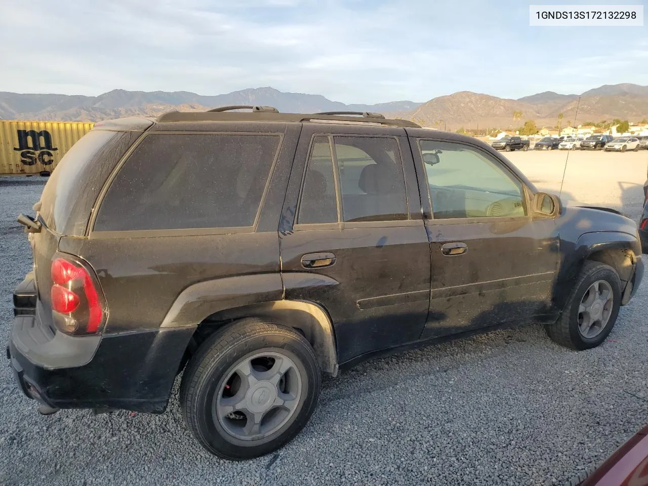
<path fill-rule="evenodd" d="M 645 486 L 648 484 L 648 426 L 634 434 L 581 486 Z"/>

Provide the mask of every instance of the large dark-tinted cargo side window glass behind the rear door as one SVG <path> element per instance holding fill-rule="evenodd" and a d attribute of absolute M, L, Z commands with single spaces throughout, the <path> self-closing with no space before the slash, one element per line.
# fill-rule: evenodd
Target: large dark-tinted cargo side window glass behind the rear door
<path fill-rule="evenodd" d="M 279 135 L 151 134 L 119 170 L 94 231 L 251 227 Z"/>

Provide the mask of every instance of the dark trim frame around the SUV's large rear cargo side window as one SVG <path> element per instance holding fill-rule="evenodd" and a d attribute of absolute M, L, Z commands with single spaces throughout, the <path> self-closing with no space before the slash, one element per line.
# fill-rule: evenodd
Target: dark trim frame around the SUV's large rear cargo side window
<path fill-rule="evenodd" d="M 153 126 L 153 125 L 152 125 Z M 261 193 L 261 200 L 259 202 L 259 207 L 257 208 L 257 214 L 255 214 L 254 222 L 252 226 L 235 226 L 235 227 L 196 227 L 196 228 L 174 228 L 174 229 L 133 229 L 133 230 L 111 230 L 111 231 L 95 231 L 95 222 L 97 220 L 97 214 L 99 208 L 101 207 L 106 194 L 110 190 L 117 174 L 121 168 L 126 164 L 130 156 L 137 149 L 139 145 L 144 143 L 144 141 L 151 136 L 174 136 L 174 135 L 263 135 L 268 137 L 279 137 L 279 143 L 277 143 L 277 150 L 270 164 L 270 170 L 268 172 L 268 179 Z M 259 224 L 259 218 L 263 205 L 270 190 L 270 183 L 272 182 L 272 176 L 277 167 L 277 161 L 279 160 L 279 154 L 281 154 L 281 148 L 283 146 L 284 133 L 281 132 L 229 132 L 229 131 L 214 131 L 214 132 L 196 132 L 187 130 L 186 132 L 151 132 L 150 128 L 147 130 L 141 137 L 133 143 L 124 156 L 117 163 L 110 176 L 106 179 L 104 186 L 97 196 L 95 205 L 93 205 L 92 214 L 90 216 L 89 223 L 87 225 L 86 235 L 91 238 L 146 238 L 146 237 L 161 237 L 161 236 L 193 236 L 193 235 L 224 235 L 226 233 L 255 233 L 257 231 L 257 226 Z"/>

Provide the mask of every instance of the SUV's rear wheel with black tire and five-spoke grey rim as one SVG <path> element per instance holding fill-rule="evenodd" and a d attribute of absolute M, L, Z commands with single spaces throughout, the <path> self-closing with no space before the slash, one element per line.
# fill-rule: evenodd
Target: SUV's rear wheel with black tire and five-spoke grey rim
<path fill-rule="evenodd" d="M 312 415 L 321 382 L 315 353 L 292 329 L 241 319 L 210 336 L 182 377 L 180 402 L 198 442 L 224 459 L 273 452 Z"/>

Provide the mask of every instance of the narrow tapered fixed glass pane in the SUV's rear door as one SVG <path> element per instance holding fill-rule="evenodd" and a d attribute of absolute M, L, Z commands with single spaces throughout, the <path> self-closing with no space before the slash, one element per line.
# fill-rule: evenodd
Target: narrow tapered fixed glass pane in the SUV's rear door
<path fill-rule="evenodd" d="M 338 204 L 329 137 L 315 137 L 308 157 L 297 223 L 337 222 Z"/>

